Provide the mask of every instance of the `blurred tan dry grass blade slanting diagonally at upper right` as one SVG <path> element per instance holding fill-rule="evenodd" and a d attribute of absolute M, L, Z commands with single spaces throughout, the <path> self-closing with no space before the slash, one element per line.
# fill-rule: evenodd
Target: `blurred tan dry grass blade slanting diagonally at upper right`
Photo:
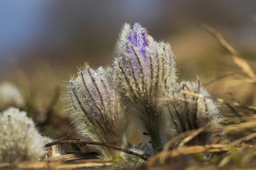
<path fill-rule="evenodd" d="M 238 65 L 247 75 L 250 77 L 253 82 L 256 82 L 256 74 L 253 72 L 253 69 L 250 67 L 250 65 L 245 61 L 245 59 L 242 59 L 239 55 L 239 53 L 229 44 L 226 40 L 221 36 L 221 34 L 218 33 L 214 28 L 211 26 L 208 26 L 207 24 L 202 24 L 202 27 L 206 29 L 210 34 L 212 34 L 213 37 L 215 37 L 218 42 L 232 54 L 232 59 Z"/>

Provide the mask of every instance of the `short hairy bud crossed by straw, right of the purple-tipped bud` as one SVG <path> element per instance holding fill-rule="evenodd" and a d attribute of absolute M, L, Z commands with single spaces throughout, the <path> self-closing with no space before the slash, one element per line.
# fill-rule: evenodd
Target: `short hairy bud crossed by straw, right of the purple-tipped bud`
<path fill-rule="evenodd" d="M 216 102 L 211 99 L 201 81 L 172 83 L 165 82 L 163 98 L 160 103 L 162 110 L 169 117 L 169 135 L 198 129 L 207 123 L 217 126 L 219 110 Z M 207 144 L 211 134 L 200 133 L 189 141 L 189 145 Z"/>

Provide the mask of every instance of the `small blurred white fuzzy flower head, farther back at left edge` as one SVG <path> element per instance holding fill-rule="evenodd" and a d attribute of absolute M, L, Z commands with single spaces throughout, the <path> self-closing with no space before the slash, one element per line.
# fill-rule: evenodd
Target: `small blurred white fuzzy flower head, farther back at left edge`
<path fill-rule="evenodd" d="M 0 110 L 14 106 L 23 108 L 25 101 L 17 86 L 11 82 L 2 82 L 0 84 Z"/>

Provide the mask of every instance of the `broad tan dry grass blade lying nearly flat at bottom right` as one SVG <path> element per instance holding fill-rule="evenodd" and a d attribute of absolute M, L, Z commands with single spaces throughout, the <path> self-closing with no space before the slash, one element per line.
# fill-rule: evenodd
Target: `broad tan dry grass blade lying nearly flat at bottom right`
<path fill-rule="evenodd" d="M 251 144 L 244 144 L 239 147 L 239 149 L 245 149 L 248 147 L 253 147 Z M 159 160 L 165 155 L 166 159 L 181 156 L 181 155 L 189 155 L 196 153 L 205 153 L 205 152 L 227 152 L 230 150 L 229 144 L 211 144 L 211 145 L 197 145 L 197 146 L 189 146 L 182 147 L 176 150 L 171 151 L 163 151 L 161 153 L 157 153 L 152 156 L 148 161 L 148 166 L 152 166 L 159 162 Z"/>

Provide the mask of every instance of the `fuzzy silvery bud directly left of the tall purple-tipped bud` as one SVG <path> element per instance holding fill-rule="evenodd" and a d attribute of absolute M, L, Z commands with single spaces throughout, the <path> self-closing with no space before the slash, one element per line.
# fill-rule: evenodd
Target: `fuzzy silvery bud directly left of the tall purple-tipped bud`
<path fill-rule="evenodd" d="M 86 64 L 84 70 L 68 82 L 67 100 L 70 119 L 80 138 L 122 147 L 125 141 L 125 107 L 111 68 L 93 70 Z M 105 159 L 115 155 L 115 150 L 95 147 Z"/>

